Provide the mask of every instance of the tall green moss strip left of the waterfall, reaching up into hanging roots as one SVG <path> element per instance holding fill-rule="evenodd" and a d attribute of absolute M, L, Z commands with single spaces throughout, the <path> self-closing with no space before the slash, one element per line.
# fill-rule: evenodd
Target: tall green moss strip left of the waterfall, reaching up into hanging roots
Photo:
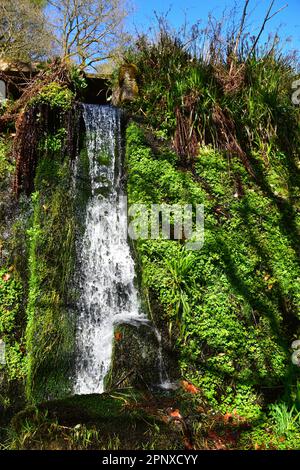
<path fill-rule="evenodd" d="M 71 393 L 75 349 L 75 239 L 90 197 L 89 159 L 79 138 L 78 159 L 67 154 L 60 114 L 39 142 L 28 229 L 27 396 L 36 402 Z M 75 122 L 74 125 L 77 123 Z M 76 165 L 76 168 L 75 168 Z"/>

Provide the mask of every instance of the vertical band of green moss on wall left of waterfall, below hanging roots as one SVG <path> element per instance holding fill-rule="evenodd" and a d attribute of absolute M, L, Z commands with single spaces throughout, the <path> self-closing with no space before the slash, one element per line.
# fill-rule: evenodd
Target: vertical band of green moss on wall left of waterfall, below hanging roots
<path fill-rule="evenodd" d="M 53 158 L 54 156 L 54 158 Z M 70 279 L 74 268 L 75 209 L 70 162 L 47 154 L 40 160 L 32 195 L 29 236 L 27 349 L 30 399 L 70 390 L 74 322 Z"/>

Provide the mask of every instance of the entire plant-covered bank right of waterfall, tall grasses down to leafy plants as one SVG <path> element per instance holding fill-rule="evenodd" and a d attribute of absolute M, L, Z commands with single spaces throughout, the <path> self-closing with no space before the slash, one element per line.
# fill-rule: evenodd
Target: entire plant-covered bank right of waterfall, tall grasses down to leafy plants
<path fill-rule="evenodd" d="M 200 251 L 137 242 L 143 286 L 163 306 L 181 373 L 209 403 L 248 418 L 258 447 L 297 447 L 297 65 L 273 43 L 253 50 L 245 36 L 234 53 L 230 37 L 226 51 L 210 38 L 204 57 L 161 21 L 127 55 L 139 86 L 127 105 L 130 203 L 205 207 Z"/>

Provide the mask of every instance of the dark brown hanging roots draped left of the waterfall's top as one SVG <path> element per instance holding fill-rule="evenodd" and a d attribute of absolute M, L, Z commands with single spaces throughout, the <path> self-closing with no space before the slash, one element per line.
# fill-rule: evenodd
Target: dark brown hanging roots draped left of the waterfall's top
<path fill-rule="evenodd" d="M 70 159 L 75 157 L 79 140 L 79 116 L 73 105 L 72 109 L 51 109 L 48 104 L 32 104 L 32 99 L 50 83 L 57 83 L 72 89 L 70 67 L 58 60 L 47 70 L 40 72 L 26 83 L 21 97 L 0 116 L 0 132 L 9 124 L 15 124 L 16 133 L 13 142 L 13 157 L 16 161 L 14 193 L 21 191 L 29 195 L 34 189 L 34 177 L 40 143 L 47 135 L 55 134 L 60 128 L 66 129 L 66 139 L 62 152 Z M 78 108 L 77 108 L 78 109 Z"/>

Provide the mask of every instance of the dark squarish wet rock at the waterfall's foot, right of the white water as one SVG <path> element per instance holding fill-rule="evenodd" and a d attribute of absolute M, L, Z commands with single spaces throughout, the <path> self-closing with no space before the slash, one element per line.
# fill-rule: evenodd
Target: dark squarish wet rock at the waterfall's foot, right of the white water
<path fill-rule="evenodd" d="M 160 381 L 158 341 L 149 325 L 123 324 L 115 327 L 112 367 L 106 388 L 120 386 L 153 386 Z"/>

